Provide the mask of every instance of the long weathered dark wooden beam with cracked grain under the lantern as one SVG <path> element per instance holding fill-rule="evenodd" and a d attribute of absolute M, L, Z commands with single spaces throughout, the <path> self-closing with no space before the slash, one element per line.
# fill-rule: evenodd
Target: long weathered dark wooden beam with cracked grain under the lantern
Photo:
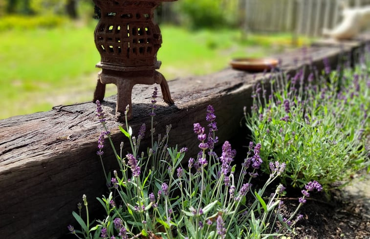
<path fill-rule="evenodd" d="M 305 53 L 295 50 L 278 57 L 283 60 L 281 68 L 286 72 L 294 72 L 310 60 L 321 70 L 324 58 L 334 66 L 343 51 L 348 54 L 369 39 L 344 47 L 313 46 Z M 192 125 L 194 122 L 206 125 L 205 109 L 211 104 L 217 114 L 220 143 L 236 137 L 243 107 L 252 104 L 252 87 L 263 79 L 268 80 L 269 75 L 227 68 L 212 75 L 169 82 L 175 105 L 158 103 L 156 132 L 164 132 L 165 126 L 172 124 L 171 145 L 186 146 L 190 149 L 188 155 L 195 154 L 197 142 Z M 133 89 L 130 125 L 134 132 L 142 123 L 149 128 L 152 91 L 152 86 Z M 115 96 L 102 105 L 114 144 L 119 148 L 125 138 L 118 130 L 119 123 L 114 121 L 114 102 Z M 95 197 L 105 194 L 107 188 L 96 155 L 102 128 L 95 107 L 87 102 L 0 120 L 1 238 L 60 238 L 67 232 L 69 223 L 76 224 L 71 213 L 76 211 L 83 194 L 87 195 L 91 212 L 100 208 Z M 149 145 L 149 133 L 142 144 Z M 107 169 L 117 167 L 108 144 L 103 156 Z"/>

